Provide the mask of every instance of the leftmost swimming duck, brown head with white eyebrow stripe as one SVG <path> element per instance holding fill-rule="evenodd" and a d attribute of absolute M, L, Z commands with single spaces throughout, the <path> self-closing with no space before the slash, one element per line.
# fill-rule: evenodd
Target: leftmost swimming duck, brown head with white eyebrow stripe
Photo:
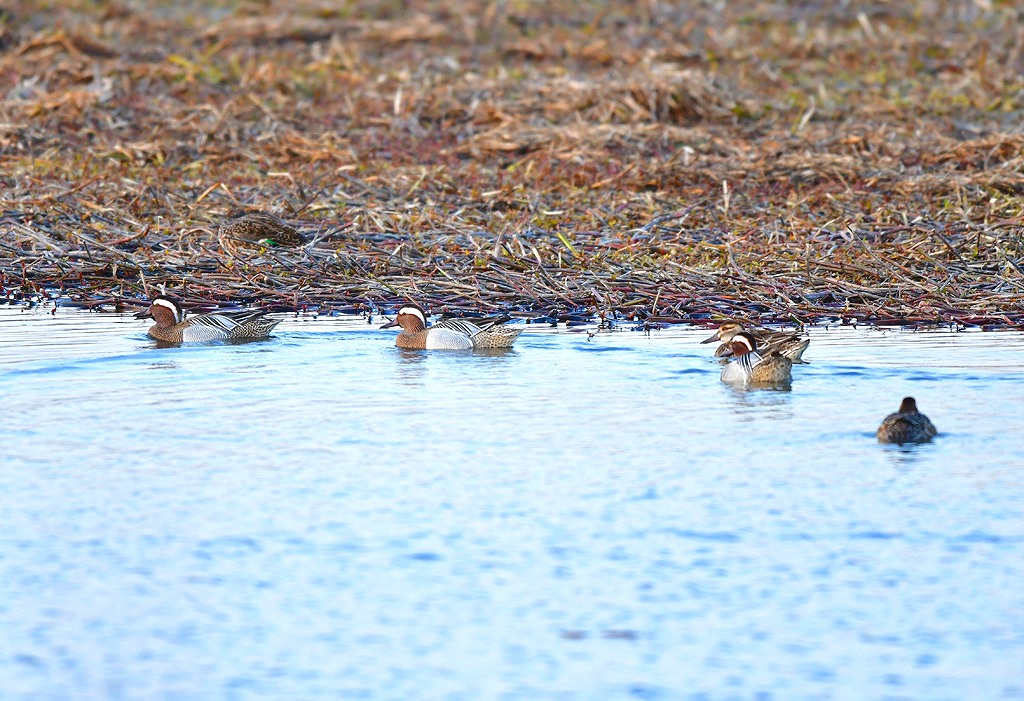
<path fill-rule="evenodd" d="M 185 318 L 181 304 L 172 297 L 159 295 L 150 308 L 135 314 L 135 318 L 152 318 L 156 323 L 148 334 L 167 343 L 193 341 L 221 341 L 225 339 L 265 338 L 280 320 L 268 319 L 262 309 L 241 311 L 215 311 Z"/>

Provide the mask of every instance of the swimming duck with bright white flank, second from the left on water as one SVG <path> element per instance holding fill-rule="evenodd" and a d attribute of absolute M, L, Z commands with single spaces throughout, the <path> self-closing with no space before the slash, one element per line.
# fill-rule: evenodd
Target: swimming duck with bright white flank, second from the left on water
<path fill-rule="evenodd" d="M 423 309 L 415 304 L 407 304 L 398 310 L 393 321 L 385 323 L 381 328 L 401 326 L 401 332 L 394 341 L 398 348 L 509 348 L 522 330 L 503 326 L 508 320 L 508 316 L 487 319 L 458 317 L 441 319 L 434 325 L 427 326 L 427 315 Z"/>

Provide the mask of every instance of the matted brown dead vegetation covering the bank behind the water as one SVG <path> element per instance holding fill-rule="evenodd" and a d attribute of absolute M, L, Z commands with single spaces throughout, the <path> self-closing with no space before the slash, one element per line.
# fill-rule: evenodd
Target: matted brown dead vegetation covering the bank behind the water
<path fill-rule="evenodd" d="M 1017 3 L 156 4 L 4 6 L 8 296 L 1024 325 Z"/>

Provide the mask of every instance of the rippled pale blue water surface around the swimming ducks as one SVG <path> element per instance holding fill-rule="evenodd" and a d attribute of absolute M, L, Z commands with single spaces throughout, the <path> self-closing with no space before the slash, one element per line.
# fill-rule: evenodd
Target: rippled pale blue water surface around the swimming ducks
<path fill-rule="evenodd" d="M 0 699 L 1024 699 L 1024 337 L 0 309 Z M 594 331 L 593 328 L 591 331 Z M 879 445 L 913 395 L 940 436 Z"/>

